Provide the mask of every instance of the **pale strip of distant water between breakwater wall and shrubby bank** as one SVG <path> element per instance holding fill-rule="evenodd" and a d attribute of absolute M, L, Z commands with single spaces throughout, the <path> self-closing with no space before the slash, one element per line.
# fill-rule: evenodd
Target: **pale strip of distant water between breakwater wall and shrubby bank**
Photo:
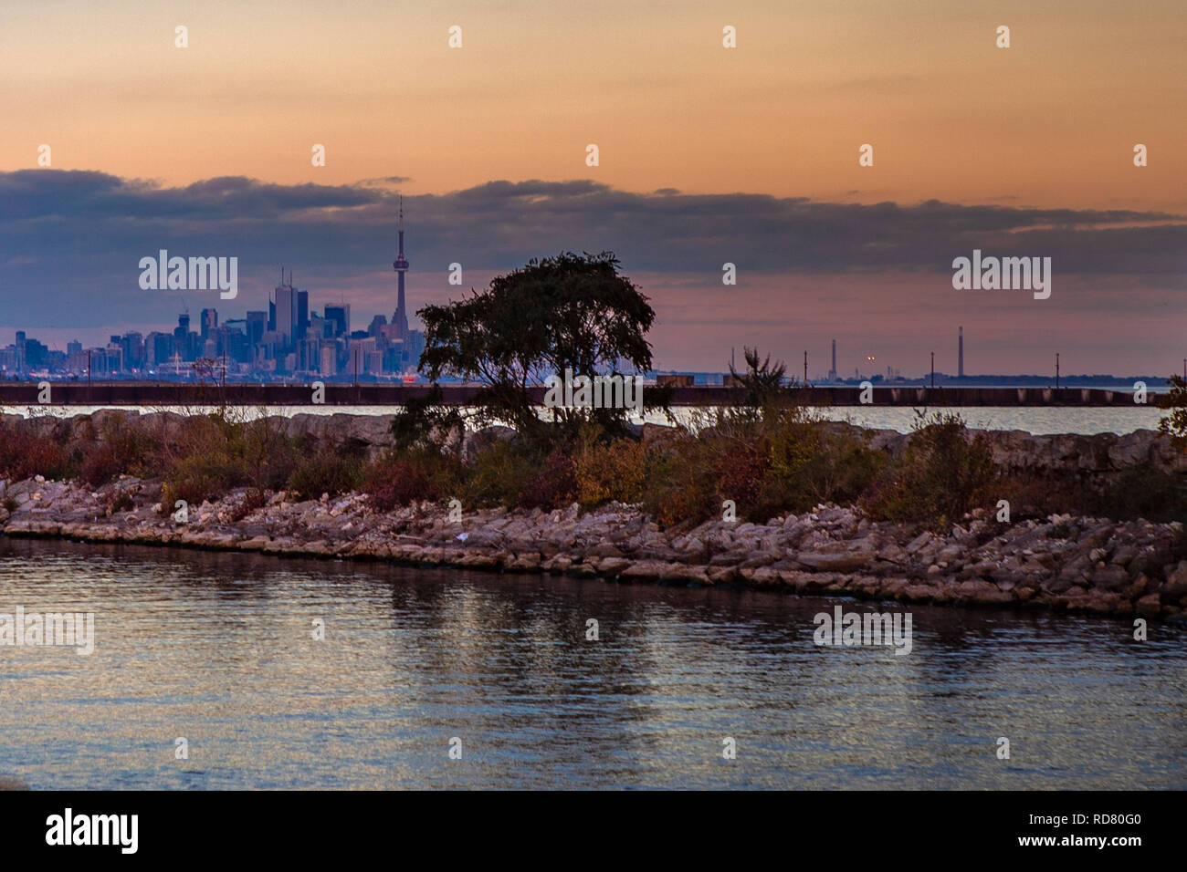
<path fill-rule="evenodd" d="M 49 414 L 57 416 L 90 414 L 100 408 L 123 408 L 141 414 L 150 412 L 179 412 L 185 414 L 197 414 L 210 412 L 212 407 L 179 407 L 179 406 L 0 406 L 0 413 L 7 414 Z M 294 414 L 353 414 L 353 415 L 391 415 L 398 410 L 394 406 L 266 406 L 266 407 L 242 407 L 241 414 L 254 418 L 260 414 L 267 415 L 294 415 Z M 838 406 L 819 409 L 820 414 L 830 420 L 852 421 L 863 427 L 882 429 L 896 429 L 900 433 L 908 433 L 915 422 L 915 409 L 904 406 Z M 1132 433 L 1135 429 L 1157 429 L 1159 419 L 1164 414 L 1154 406 L 965 406 L 957 407 L 931 407 L 928 414 L 934 412 L 958 413 L 971 427 L 980 429 L 1021 429 L 1036 435 L 1053 433 Z M 677 420 L 688 421 L 690 410 L 687 407 L 674 409 Z M 666 424 L 667 419 L 661 414 L 649 414 L 648 421 L 653 424 Z"/>

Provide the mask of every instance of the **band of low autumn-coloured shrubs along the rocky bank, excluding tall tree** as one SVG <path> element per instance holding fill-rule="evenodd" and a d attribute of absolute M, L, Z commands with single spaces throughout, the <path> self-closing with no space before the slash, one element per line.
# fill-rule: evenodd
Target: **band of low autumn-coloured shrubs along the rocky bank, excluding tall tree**
<path fill-rule="evenodd" d="M 201 504 L 248 488 L 243 513 L 266 491 L 317 498 L 363 491 L 376 510 L 457 498 L 465 507 L 592 508 L 641 504 L 665 526 L 721 517 L 732 501 L 740 520 L 766 521 L 820 503 L 855 504 L 871 520 L 941 530 L 975 508 L 1013 518 L 1073 514 L 1150 521 L 1187 520 L 1181 476 L 1150 466 L 1115 473 L 1100 489 L 1078 476 L 1036 478 L 995 466 L 983 434 L 954 416 L 923 416 L 899 456 L 868 434 L 820 420 L 795 402 L 795 388 L 700 414 L 687 426 L 525 437 L 504 428 L 465 434 L 457 420 L 410 429 L 398 416 L 393 446 L 368 459 L 362 446 L 328 446 L 286 435 L 275 421 L 226 409 L 180 419 L 145 438 L 120 416 L 104 416 L 90 438 L 58 443 L 15 422 L 0 432 L 0 478 L 77 478 L 91 488 L 120 475 L 163 480 L 161 501 Z"/>

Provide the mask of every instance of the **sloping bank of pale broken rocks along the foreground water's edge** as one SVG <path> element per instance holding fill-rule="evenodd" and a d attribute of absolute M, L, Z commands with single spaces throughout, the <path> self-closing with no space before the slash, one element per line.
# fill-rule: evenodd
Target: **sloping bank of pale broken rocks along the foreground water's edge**
<path fill-rule="evenodd" d="M 40 477 L 38 477 L 40 479 Z M 764 524 L 709 521 L 661 530 L 637 508 L 464 510 L 421 503 L 375 513 L 368 497 L 293 502 L 247 489 L 190 507 L 182 523 L 160 483 L 123 476 L 99 490 L 75 482 L 0 483 L 0 533 L 383 560 L 620 583 L 732 585 L 964 606 L 1042 607 L 1183 618 L 1187 553 L 1179 522 L 1069 516 L 997 523 L 977 510 L 946 535 L 874 523 L 821 505 Z"/>

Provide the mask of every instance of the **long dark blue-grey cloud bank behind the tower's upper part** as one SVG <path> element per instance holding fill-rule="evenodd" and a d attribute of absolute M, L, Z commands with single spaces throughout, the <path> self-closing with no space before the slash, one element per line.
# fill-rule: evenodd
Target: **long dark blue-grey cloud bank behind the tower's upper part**
<path fill-rule="evenodd" d="M 171 323 L 179 294 L 138 286 L 140 257 L 161 248 L 237 256 L 245 292 L 228 306 L 236 311 L 266 305 L 281 265 L 322 300 L 349 291 L 391 308 L 396 193 L 388 187 L 402 180 L 279 185 L 220 177 L 169 187 L 94 171 L 0 173 L 2 322 Z M 404 201 L 410 287 L 431 285 L 439 297 L 457 293 L 444 284 L 452 262 L 463 265 L 469 286 L 471 276 L 564 249 L 614 250 L 627 274 L 704 275 L 705 286 L 719 282 L 726 261 L 741 275 L 768 279 L 934 275 L 951 273 L 952 259 L 973 248 L 1050 256 L 1056 281 L 1097 276 L 1126 293 L 1187 286 L 1187 223 L 1164 212 L 640 193 L 588 179 L 494 180 Z M 201 294 L 186 303 L 218 305 Z"/>

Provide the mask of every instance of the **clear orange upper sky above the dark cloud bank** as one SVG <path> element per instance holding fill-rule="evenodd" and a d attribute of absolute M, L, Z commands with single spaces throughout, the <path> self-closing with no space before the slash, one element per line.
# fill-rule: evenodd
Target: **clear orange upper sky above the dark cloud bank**
<path fill-rule="evenodd" d="M 1181 4 L 1036 6 L 6 0 L 0 168 L 1187 214 Z"/>

